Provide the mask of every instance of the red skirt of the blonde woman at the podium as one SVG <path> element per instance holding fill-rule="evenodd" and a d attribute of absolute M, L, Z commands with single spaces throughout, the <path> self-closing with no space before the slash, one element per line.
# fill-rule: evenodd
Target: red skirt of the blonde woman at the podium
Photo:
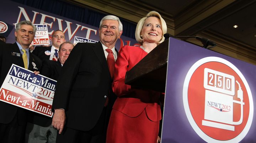
<path fill-rule="evenodd" d="M 137 117 L 129 117 L 112 109 L 106 143 L 156 143 L 159 121 L 151 121 L 145 110 Z"/>

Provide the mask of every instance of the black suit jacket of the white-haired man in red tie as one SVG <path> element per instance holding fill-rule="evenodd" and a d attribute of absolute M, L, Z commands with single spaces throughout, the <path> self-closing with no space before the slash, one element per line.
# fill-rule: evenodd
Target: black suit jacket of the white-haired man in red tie
<path fill-rule="evenodd" d="M 78 43 L 65 61 L 59 76 L 53 110 L 63 108 L 66 126 L 88 131 L 100 118 L 112 79 L 100 42 Z"/>

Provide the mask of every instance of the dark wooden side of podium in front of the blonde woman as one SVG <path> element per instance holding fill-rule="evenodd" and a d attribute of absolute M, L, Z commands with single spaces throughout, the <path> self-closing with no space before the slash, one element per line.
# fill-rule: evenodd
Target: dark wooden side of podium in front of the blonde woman
<path fill-rule="evenodd" d="M 125 83 L 144 89 L 165 92 L 169 39 L 127 71 Z"/>

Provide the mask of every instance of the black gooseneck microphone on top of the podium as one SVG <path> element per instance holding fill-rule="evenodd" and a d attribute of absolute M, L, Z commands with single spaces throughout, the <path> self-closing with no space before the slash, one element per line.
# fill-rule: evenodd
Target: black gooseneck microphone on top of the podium
<path fill-rule="evenodd" d="M 206 39 L 206 38 L 202 38 L 202 37 L 199 37 L 199 36 L 172 36 L 171 34 L 169 33 L 165 33 L 164 34 L 164 38 L 165 39 L 168 39 L 169 37 L 181 37 L 181 38 L 196 38 L 197 40 L 201 41 L 202 44 L 203 44 L 203 47 L 206 48 L 206 49 L 209 49 L 209 48 L 212 48 L 212 47 L 215 47 L 216 46 L 216 43 L 209 40 L 209 39 Z M 211 46 L 211 47 L 208 47 L 208 46 Z M 208 47 L 208 48 L 207 48 Z"/>

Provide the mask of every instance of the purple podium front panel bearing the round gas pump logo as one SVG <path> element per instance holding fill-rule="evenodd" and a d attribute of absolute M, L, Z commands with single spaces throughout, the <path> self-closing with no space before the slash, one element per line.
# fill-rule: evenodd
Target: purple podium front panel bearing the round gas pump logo
<path fill-rule="evenodd" d="M 169 41 L 161 143 L 256 142 L 256 66 Z"/>

